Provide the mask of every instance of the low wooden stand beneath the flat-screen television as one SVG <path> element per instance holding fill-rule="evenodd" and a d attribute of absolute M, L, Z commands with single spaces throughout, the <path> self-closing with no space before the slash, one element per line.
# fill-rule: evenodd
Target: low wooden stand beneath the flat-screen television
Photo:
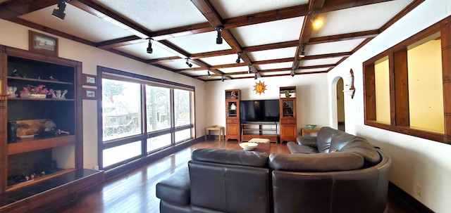
<path fill-rule="evenodd" d="M 252 138 L 267 138 L 270 142 L 278 143 L 277 122 L 271 123 L 243 123 L 241 124 L 241 141 Z"/>

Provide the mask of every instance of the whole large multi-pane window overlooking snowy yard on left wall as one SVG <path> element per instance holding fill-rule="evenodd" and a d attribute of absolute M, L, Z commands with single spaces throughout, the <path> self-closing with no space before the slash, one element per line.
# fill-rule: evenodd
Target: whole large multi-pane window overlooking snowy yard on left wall
<path fill-rule="evenodd" d="M 99 167 L 113 169 L 194 138 L 194 87 L 98 67 Z"/>

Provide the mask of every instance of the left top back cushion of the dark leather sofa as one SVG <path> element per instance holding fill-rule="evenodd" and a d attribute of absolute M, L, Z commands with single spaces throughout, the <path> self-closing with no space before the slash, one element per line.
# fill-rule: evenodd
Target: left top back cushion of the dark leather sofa
<path fill-rule="evenodd" d="M 268 168 L 268 154 L 245 150 L 201 148 L 192 151 L 191 159 L 202 162 Z"/>

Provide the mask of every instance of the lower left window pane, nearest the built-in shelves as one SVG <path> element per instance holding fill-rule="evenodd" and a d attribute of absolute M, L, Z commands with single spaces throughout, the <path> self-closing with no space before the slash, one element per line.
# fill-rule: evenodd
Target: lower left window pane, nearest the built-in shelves
<path fill-rule="evenodd" d="M 141 141 L 104 150 L 104 167 L 141 155 Z"/>

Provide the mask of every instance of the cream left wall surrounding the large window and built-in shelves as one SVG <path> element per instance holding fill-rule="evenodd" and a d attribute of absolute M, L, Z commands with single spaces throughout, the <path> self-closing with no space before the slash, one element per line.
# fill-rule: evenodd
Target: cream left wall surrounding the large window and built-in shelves
<path fill-rule="evenodd" d="M 28 30 L 37 31 L 1 19 L 0 29 L 0 44 L 25 50 L 28 49 Z M 81 61 L 83 73 L 97 75 L 97 65 L 101 65 L 116 70 L 134 72 L 170 82 L 195 86 L 196 136 L 204 135 L 205 117 L 203 112 L 205 111 L 204 103 L 206 102 L 204 100 L 204 82 L 61 37 L 58 38 L 58 45 L 59 57 Z M 97 164 L 97 101 L 84 100 L 83 167 L 92 169 Z"/>

